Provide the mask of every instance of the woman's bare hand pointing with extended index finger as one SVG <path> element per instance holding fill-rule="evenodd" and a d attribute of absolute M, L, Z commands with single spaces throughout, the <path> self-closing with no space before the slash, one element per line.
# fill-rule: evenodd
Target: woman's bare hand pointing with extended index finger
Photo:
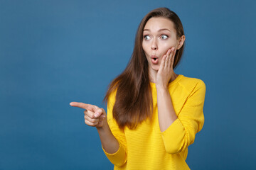
<path fill-rule="evenodd" d="M 84 114 L 86 125 L 101 128 L 103 125 L 105 125 L 105 123 L 107 123 L 107 114 L 103 108 L 79 102 L 71 102 L 70 106 L 85 109 Z"/>

